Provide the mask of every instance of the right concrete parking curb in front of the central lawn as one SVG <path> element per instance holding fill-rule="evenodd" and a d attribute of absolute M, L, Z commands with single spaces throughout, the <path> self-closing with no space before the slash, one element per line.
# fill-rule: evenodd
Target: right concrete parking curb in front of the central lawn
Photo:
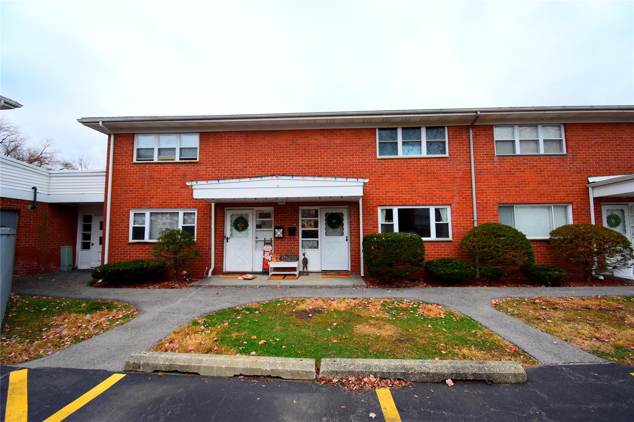
<path fill-rule="evenodd" d="M 526 382 L 526 371 L 514 361 L 427 361 L 415 359 L 321 359 L 320 378 L 374 375 L 411 382 L 479 380 Z"/>

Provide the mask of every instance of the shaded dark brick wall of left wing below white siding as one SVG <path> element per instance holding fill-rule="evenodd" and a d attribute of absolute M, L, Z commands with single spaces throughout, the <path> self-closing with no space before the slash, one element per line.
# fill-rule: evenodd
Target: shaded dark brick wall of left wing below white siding
<path fill-rule="evenodd" d="M 77 206 L 0 198 L 0 208 L 18 211 L 15 239 L 15 275 L 57 271 L 60 246 L 72 245 L 73 263 L 77 248 Z"/>

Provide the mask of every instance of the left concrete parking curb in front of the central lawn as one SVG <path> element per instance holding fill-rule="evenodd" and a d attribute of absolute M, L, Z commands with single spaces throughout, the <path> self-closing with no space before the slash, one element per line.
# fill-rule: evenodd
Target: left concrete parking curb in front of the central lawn
<path fill-rule="evenodd" d="M 205 376 L 270 375 L 287 380 L 314 380 L 314 359 L 298 357 L 233 356 L 217 354 L 136 352 L 123 366 L 124 371 L 195 372 Z"/>

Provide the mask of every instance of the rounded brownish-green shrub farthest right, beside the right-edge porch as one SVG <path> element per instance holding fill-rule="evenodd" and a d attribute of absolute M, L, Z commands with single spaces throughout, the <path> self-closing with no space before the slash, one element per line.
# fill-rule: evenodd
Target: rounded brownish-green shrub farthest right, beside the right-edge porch
<path fill-rule="evenodd" d="M 593 270 L 626 268 L 634 259 L 630 240 L 603 226 L 567 224 L 550 232 L 549 240 L 553 253 L 583 271 L 584 280 L 591 280 Z"/>

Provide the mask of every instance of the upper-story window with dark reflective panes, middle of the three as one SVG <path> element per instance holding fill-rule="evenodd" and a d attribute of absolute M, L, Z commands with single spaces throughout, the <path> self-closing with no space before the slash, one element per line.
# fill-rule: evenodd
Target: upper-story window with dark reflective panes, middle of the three
<path fill-rule="evenodd" d="M 377 129 L 377 156 L 426 157 L 447 155 L 447 127 Z"/>

